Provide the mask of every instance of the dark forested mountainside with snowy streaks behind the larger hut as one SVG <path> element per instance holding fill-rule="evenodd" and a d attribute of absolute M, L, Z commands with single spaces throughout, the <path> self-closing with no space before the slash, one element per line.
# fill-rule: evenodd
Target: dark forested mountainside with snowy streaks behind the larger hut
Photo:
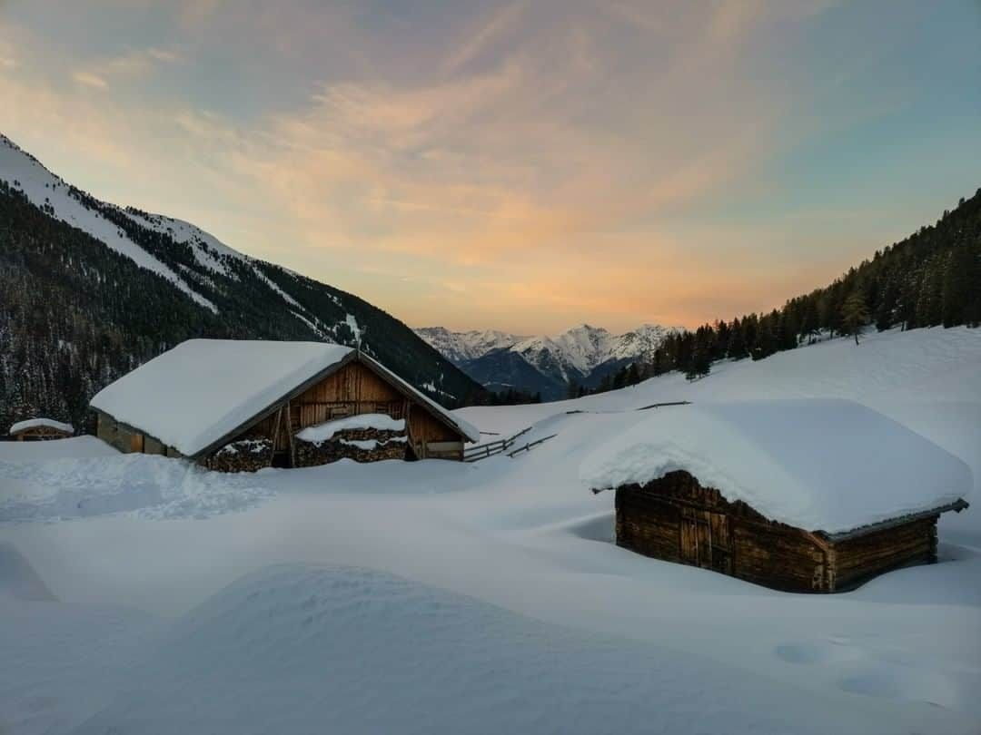
<path fill-rule="evenodd" d="M 486 395 L 357 296 L 100 201 L 0 135 L 0 431 L 36 415 L 83 427 L 97 390 L 190 337 L 360 343 L 448 407 Z"/>

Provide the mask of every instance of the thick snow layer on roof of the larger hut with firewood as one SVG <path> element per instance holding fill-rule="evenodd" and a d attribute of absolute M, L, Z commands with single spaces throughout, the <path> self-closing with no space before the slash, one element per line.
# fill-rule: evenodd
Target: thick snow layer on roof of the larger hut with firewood
<path fill-rule="evenodd" d="M 191 339 L 91 403 L 192 456 L 350 352 L 323 342 Z"/>

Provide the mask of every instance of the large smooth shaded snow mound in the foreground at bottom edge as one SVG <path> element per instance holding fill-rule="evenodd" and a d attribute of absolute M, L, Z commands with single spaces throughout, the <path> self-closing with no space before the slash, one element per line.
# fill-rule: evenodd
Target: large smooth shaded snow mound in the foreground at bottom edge
<path fill-rule="evenodd" d="M 803 692 L 775 713 L 772 686 L 384 572 L 284 564 L 184 615 L 75 733 L 842 731 Z"/>

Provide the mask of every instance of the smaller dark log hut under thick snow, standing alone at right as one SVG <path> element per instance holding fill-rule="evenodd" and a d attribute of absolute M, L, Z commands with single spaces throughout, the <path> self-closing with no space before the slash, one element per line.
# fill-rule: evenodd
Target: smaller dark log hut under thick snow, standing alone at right
<path fill-rule="evenodd" d="M 836 592 L 937 560 L 937 520 L 967 507 L 970 469 L 843 400 L 660 409 L 580 474 L 616 488 L 616 543 L 791 592 Z"/>

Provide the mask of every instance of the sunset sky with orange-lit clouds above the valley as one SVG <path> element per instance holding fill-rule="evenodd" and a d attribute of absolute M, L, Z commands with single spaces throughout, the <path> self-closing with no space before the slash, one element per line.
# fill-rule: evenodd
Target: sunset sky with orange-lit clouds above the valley
<path fill-rule="evenodd" d="M 414 326 L 692 326 L 981 186 L 981 2 L 0 0 L 0 131 Z"/>

